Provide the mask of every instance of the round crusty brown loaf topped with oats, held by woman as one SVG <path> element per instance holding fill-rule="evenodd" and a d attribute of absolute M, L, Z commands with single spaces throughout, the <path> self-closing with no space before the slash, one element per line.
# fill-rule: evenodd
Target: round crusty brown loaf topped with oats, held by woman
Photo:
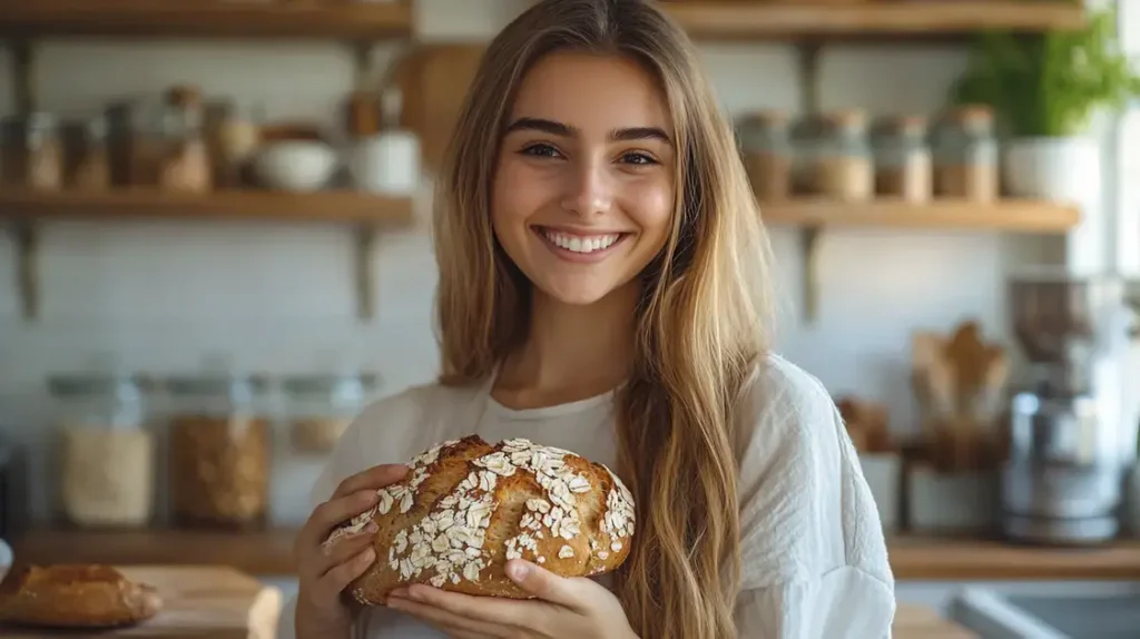
<path fill-rule="evenodd" d="M 388 593 L 426 583 L 467 595 L 527 598 L 505 574 L 522 558 L 562 576 L 611 572 L 629 555 L 634 499 L 617 475 L 572 452 L 478 435 L 423 452 L 377 506 L 325 543 L 375 522 L 376 562 L 348 592 L 382 605 Z"/>

